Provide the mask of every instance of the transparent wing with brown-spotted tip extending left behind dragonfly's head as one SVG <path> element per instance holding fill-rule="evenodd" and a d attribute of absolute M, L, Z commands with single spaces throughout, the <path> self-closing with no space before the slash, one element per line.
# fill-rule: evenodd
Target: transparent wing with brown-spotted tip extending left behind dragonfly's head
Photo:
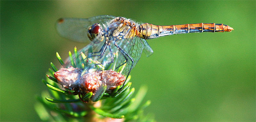
<path fill-rule="evenodd" d="M 60 18 L 56 22 L 56 29 L 60 36 L 78 42 L 89 41 L 87 28 L 95 23 L 105 24 L 116 18 L 111 15 L 101 15 L 91 18 Z"/>

